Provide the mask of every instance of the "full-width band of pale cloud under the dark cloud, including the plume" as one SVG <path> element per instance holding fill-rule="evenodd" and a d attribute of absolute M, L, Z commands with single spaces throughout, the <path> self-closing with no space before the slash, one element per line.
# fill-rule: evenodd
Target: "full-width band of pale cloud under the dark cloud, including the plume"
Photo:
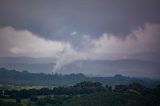
<path fill-rule="evenodd" d="M 75 37 L 79 37 L 76 34 Z M 145 53 L 157 53 L 154 56 L 159 57 L 159 35 L 160 24 L 148 23 L 125 38 L 110 33 L 104 33 L 99 38 L 81 35 L 81 46 L 76 46 L 69 41 L 47 40 L 27 30 L 4 27 L 0 29 L 0 53 L 1 57 L 55 57 L 57 63 L 54 70 L 59 70 L 66 64 L 84 59 L 150 59 L 144 57 Z"/>

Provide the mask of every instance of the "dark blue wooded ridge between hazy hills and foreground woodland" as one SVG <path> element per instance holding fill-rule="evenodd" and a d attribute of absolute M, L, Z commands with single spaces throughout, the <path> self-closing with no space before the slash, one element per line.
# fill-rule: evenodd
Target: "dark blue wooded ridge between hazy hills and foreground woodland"
<path fill-rule="evenodd" d="M 11 84 L 29 84 L 43 86 L 70 86 L 82 81 L 98 81 L 108 85 L 129 84 L 131 82 L 139 82 L 145 86 L 155 86 L 160 84 L 159 80 L 130 78 L 122 75 L 113 77 L 88 77 L 83 74 L 43 74 L 29 73 L 27 71 L 16 71 L 0 68 L 0 83 Z"/>

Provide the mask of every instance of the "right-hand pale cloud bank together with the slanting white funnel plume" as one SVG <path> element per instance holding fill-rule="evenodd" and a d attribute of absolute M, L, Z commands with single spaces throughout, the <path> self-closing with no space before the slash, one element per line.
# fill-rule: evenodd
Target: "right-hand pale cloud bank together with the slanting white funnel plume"
<path fill-rule="evenodd" d="M 145 59 L 154 60 L 160 57 L 159 39 L 160 24 L 145 24 L 133 30 L 125 39 L 116 35 L 104 33 L 95 39 L 89 35 L 83 35 L 80 51 L 68 45 L 56 62 L 54 72 L 63 66 L 78 60 L 117 60 L 117 59 Z M 90 45 L 90 46 L 88 46 Z M 141 54 L 141 55 L 140 55 Z M 149 56 L 149 57 L 148 57 Z"/>

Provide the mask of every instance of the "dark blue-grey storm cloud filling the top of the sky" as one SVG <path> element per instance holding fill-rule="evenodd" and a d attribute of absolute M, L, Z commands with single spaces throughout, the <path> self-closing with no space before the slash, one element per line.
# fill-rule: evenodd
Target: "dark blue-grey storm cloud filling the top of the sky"
<path fill-rule="evenodd" d="M 159 0 L 1 0 L 0 27 L 60 40 L 73 31 L 123 36 L 144 23 L 160 23 L 159 5 Z"/>

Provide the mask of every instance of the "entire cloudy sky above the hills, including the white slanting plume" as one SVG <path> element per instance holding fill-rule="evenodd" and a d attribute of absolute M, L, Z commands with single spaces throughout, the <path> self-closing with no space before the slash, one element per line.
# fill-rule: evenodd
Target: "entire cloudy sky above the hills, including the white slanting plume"
<path fill-rule="evenodd" d="M 160 0 L 0 0 L 0 57 L 159 61 L 159 40 Z"/>

